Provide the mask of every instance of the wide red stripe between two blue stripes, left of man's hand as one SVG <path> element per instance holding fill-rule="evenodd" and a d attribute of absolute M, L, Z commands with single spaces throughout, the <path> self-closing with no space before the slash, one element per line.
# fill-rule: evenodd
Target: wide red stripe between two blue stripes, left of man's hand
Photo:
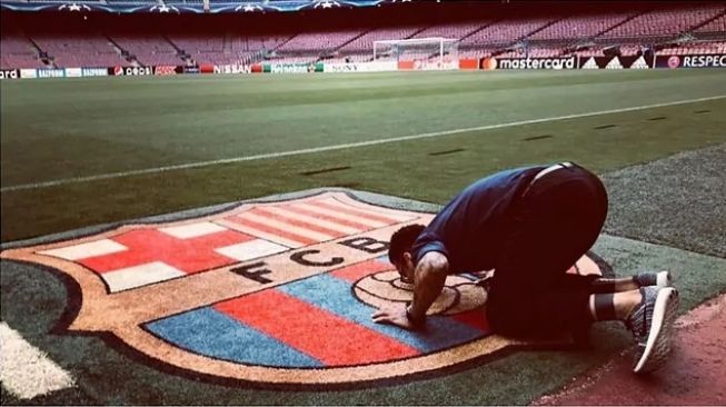
<path fill-rule="evenodd" d="M 419 355 L 405 344 L 275 290 L 221 302 L 215 309 L 327 366 L 371 364 Z"/>

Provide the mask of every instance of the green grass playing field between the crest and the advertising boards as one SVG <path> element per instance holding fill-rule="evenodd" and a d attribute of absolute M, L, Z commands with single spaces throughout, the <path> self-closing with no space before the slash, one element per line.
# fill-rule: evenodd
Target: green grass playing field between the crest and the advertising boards
<path fill-rule="evenodd" d="M 317 186 L 440 204 L 506 167 L 569 159 L 606 171 L 726 139 L 717 99 L 6 190 L 720 96 L 726 80 L 720 70 L 125 77 L 3 81 L 1 95 L 2 241 Z M 694 113 L 704 109 L 713 113 Z"/>

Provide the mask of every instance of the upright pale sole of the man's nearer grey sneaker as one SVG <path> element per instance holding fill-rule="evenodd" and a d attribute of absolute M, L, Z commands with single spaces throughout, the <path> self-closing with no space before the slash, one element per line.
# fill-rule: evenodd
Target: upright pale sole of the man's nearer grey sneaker
<path fill-rule="evenodd" d="M 634 373 L 653 371 L 666 361 L 670 353 L 670 328 L 678 311 L 678 291 L 675 288 L 663 288 L 656 297 L 650 332 L 640 359 L 633 369 Z"/>

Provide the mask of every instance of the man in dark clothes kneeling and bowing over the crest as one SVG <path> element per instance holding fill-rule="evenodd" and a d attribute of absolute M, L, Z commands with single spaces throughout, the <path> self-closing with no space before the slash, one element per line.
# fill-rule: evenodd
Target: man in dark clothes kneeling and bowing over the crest
<path fill-rule="evenodd" d="M 428 227 L 391 237 L 389 259 L 414 299 L 374 314 L 376 322 L 420 329 L 447 275 L 494 269 L 487 319 L 501 335 L 575 336 L 599 320 L 621 320 L 638 343 L 635 373 L 660 367 L 670 349 L 678 292 L 667 271 L 604 279 L 568 275 L 595 244 L 607 193 L 590 171 L 570 162 L 503 171 L 454 198 Z"/>

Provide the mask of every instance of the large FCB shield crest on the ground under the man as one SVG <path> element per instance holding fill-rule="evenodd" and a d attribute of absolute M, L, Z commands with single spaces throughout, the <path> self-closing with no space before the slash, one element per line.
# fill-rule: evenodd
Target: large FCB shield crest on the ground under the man
<path fill-rule="evenodd" d="M 377 307 L 411 299 L 386 258 L 390 235 L 432 216 L 328 191 L 0 256 L 77 281 L 69 334 L 110 332 L 147 360 L 203 377 L 349 385 L 521 345 L 491 335 L 480 274 L 448 277 L 424 332 L 372 322 Z M 570 272 L 600 270 L 583 257 Z"/>

